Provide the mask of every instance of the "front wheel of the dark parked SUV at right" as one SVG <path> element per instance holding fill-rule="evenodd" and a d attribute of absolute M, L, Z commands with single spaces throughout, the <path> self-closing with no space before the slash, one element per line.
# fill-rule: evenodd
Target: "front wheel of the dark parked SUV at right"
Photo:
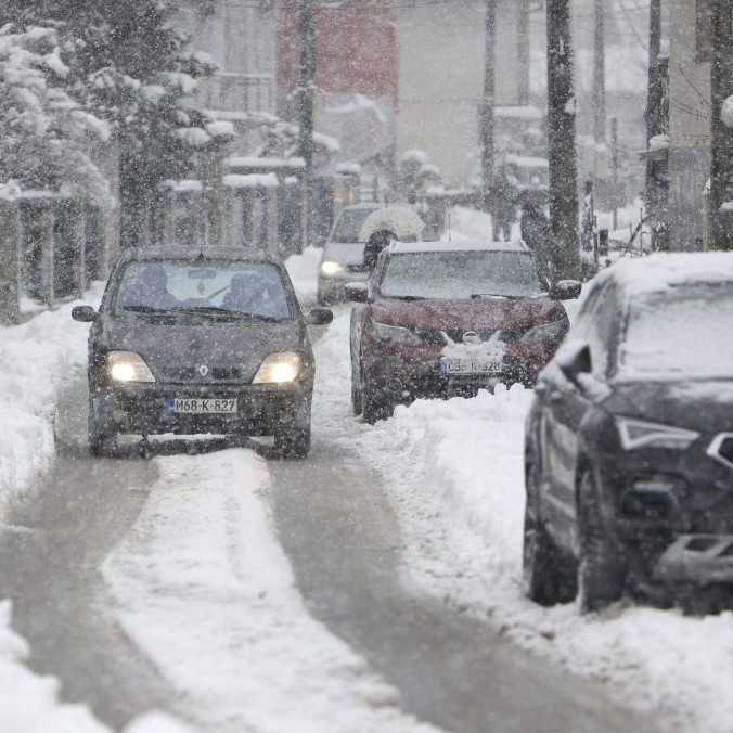
<path fill-rule="evenodd" d="M 591 471 L 580 477 L 578 506 L 580 563 L 578 565 L 578 601 L 580 613 L 602 610 L 623 593 L 625 563 L 601 518 L 601 506 Z"/>

